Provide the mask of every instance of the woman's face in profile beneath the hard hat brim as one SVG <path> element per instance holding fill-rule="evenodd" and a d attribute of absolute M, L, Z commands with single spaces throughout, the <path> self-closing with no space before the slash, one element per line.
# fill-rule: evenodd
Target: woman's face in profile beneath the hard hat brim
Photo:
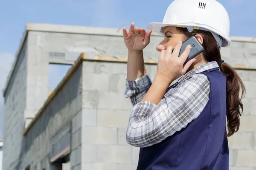
<path fill-rule="evenodd" d="M 184 40 L 184 34 L 177 31 L 176 27 L 167 26 L 164 29 L 164 40 L 157 45 L 157 51 L 166 50 L 167 47 L 175 47 L 179 41 Z"/>

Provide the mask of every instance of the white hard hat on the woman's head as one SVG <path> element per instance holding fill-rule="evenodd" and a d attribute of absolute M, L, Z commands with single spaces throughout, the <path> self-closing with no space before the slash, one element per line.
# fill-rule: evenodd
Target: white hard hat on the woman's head
<path fill-rule="evenodd" d="M 220 48 L 231 44 L 229 15 L 216 0 L 174 0 L 166 10 L 163 23 L 150 23 L 148 29 L 164 34 L 166 26 L 210 31 Z"/>

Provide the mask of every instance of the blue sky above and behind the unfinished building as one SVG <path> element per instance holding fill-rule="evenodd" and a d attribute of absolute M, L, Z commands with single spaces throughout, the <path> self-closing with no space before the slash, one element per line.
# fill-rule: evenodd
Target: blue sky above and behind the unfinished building
<path fill-rule="evenodd" d="M 0 88 L 6 81 L 26 23 L 146 28 L 161 22 L 173 0 L 5 0 L 0 6 Z M 255 0 L 218 0 L 230 15 L 230 35 L 256 37 Z M 182 8 L 181 8 L 182 10 Z M 50 68 L 57 82 L 67 68 Z M 57 77 L 57 78 L 56 78 Z M 53 82 L 54 86 L 57 82 Z M 50 80 L 51 81 L 51 80 Z M 0 139 L 3 137 L 3 98 L 0 97 Z"/>

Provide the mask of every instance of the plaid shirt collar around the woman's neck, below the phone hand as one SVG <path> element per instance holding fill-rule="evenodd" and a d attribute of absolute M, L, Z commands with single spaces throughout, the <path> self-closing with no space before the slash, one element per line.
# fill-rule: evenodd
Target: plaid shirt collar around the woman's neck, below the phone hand
<path fill-rule="evenodd" d="M 206 62 L 202 65 L 199 65 L 197 68 L 190 70 L 189 72 L 184 74 L 182 77 L 180 77 L 178 82 L 181 82 L 183 79 L 186 79 L 186 78 L 192 76 L 193 74 L 201 73 L 203 71 L 207 71 L 212 68 L 219 68 L 218 63 L 216 61 Z"/>

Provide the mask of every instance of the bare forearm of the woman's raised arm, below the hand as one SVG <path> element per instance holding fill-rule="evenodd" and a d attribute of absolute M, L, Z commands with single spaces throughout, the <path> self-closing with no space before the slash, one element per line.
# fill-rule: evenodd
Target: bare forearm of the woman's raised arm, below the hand
<path fill-rule="evenodd" d="M 143 51 L 129 51 L 127 61 L 127 80 L 134 81 L 146 74 Z"/>

